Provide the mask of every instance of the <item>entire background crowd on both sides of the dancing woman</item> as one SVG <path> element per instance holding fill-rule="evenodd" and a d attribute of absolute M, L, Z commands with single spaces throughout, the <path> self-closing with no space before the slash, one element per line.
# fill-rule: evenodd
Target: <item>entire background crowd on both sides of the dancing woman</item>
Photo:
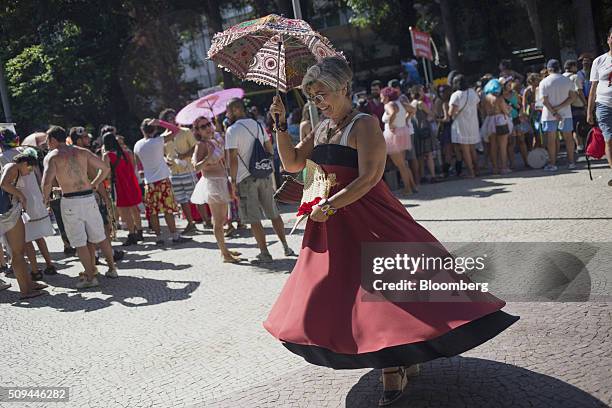
<path fill-rule="evenodd" d="M 608 45 L 609 53 L 596 59 L 583 54 L 565 61 L 563 69 L 551 59 L 544 69 L 521 75 L 504 60 L 499 75 L 487 74 L 475 83 L 453 71 L 436 89 L 409 86 L 406 75 L 387 86 L 375 80 L 369 94 L 355 93 L 351 102 L 356 112 L 376 119 L 386 143 L 386 169 L 397 170 L 402 194 L 451 176 L 511 173 L 527 167 L 535 149 L 546 150 L 541 167 L 555 172 L 561 142 L 567 169 L 575 169 L 595 117 L 612 167 L 612 30 Z M 262 225 L 269 219 L 284 255 L 294 256 L 273 198 L 280 173 L 291 172 L 280 164 L 274 135 L 286 131 L 296 145 L 312 137 L 320 129 L 316 123 L 313 127 L 311 115 L 332 114 L 324 108 L 325 98 L 322 93 L 303 110 L 283 111 L 283 129 L 275 128 L 271 111 L 266 117 L 238 98 L 227 104 L 224 115 L 201 116 L 191 124 L 178 124 L 176 111 L 164 109 L 158 119 L 142 121 L 142 138 L 133 150 L 110 125 L 102 127 L 96 143 L 82 126 L 69 131 L 50 126 L 21 144 L 15 132 L 0 129 L 0 271 L 15 275 L 24 298 L 46 293 L 40 281 L 57 273 L 45 242 L 55 233 L 53 219 L 64 253 L 77 254 L 82 263 L 79 289 L 99 285 L 98 252 L 106 259 L 105 275 L 118 277 L 116 263 L 125 255 L 111 246 L 118 226 L 127 230 L 123 247 L 145 239 L 143 219 L 155 244 L 165 245 L 161 216 L 172 244 L 189 241 L 186 235 L 197 233 L 201 220 L 212 229 L 222 261 L 229 263 L 243 259 L 225 239 L 245 224 L 259 248 L 252 262 L 272 262 Z M 181 233 L 175 220 L 179 213 L 187 221 Z M 9 286 L 0 280 L 0 290 Z"/>

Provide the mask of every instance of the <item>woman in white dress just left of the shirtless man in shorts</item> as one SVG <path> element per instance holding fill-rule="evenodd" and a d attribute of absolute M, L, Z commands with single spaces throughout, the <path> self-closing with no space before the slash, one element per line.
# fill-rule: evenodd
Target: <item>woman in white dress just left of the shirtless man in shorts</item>
<path fill-rule="evenodd" d="M 20 156 L 23 155 L 38 160 L 38 153 L 31 147 L 23 149 Z M 40 191 L 40 179 L 37 175 L 38 168 L 34 166 L 33 171 L 19 177 L 17 181 L 17 188 L 26 197 L 26 208 L 22 215 L 23 224 L 25 225 L 25 252 L 32 267 L 32 278 L 34 280 L 42 279 L 42 273 L 38 270 L 34 242 L 36 242 L 38 250 L 45 259 L 46 267 L 43 271 L 44 274 L 55 275 L 57 273 L 47 248 L 47 242 L 45 241 L 45 237 L 55 235 L 55 230 L 53 229 L 53 224 L 51 224 L 49 211 L 44 204 L 42 192 Z"/>

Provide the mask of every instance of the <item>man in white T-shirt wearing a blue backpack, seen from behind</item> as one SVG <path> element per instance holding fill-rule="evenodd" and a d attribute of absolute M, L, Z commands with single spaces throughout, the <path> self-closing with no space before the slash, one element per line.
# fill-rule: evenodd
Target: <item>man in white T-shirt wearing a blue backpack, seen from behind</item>
<path fill-rule="evenodd" d="M 274 184 L 271 177 L 274 171 L 273 149 L 270 136 L 260 123 L 247 117 L 242 99 L 234 98 L 229 101 L 225 115 L 232 123 L 225 133 L 232 190 L 240 200 L 240 219 L 251 225 L 260 250 L 253 262 L 272 262 L 261 224 L 264 216 L 272 221 L 274 231 L 283 244 L 285 256 L 294 255 L 287 245 L 285 224 L 274 202 Z"/>

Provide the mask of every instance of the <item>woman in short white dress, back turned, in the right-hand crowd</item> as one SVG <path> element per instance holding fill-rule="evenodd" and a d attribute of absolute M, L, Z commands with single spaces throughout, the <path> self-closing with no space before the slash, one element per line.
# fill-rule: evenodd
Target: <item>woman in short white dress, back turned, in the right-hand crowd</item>
<path fill-rule="evenodd" d="M 468 87 L 465 77 L 461 74 L 453 77 L 453 88 L 455 92 L 449 101 L 449 115 L 453 119 L 451 141 L 459 145 L 469 177 L 475 177 L 478 172 L 476 145 L 480 142 L 478 128 L 480 98 L 473 88 Z"/>

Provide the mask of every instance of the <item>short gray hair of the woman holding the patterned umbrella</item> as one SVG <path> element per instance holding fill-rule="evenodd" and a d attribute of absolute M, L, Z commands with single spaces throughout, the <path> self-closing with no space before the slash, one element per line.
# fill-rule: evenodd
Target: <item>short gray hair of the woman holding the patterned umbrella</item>
<path fill-rule="evenodd" d="M 302 92 L 310 96 L 308 91 L 315 83 L 320 83 L 331 91 L 338 91 L 347 87 L 347 96 L 350 95 L 353 71 L 349 68 L 346 60 L 341 57 L 327 57 L 321 62 L 308 68 L 304 79 L 302 79 Z"/>

